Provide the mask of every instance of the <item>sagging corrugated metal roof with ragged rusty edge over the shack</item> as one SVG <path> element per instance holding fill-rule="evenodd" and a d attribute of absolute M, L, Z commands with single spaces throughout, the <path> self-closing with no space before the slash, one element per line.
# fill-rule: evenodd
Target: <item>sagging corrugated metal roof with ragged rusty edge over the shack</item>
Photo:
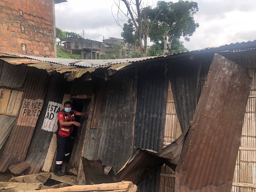
<path fill-rule="evenodd" d="M 206 52 L 239 52 L 244 50 L 256 49 L 256 40 L 241 42 L 235 44 L 226 44 L 220 47 L 210 47 L 205 49 L 198 49 L 194 51 L 179 52 L 173 55 L 165 56 L 153 56 L 153 57 L 142 57 L 142 58 L 122 58 L 122 59 L 108 59 L 108 60 L 75 60 L 75 59 L 63 59 L 63 58 L 43 58 L 34 57 L 27 55 L 13 55 L 0 52 L 0 59 L 5 60 L 11 64 L 26 64 L 29 67 L 36 67 L 39 69 L 47 70 L 49 74 L 51 73 L 67 73 L 71 72 L 70 76 L 67 77 L 69 81 L 73 81 L 75 78 L 81 77 L 84 73 L 92 73 L 97 68 L 109 67 L 109 69 L 114 69 L 114 71 L 120 70 L 130 64 L 139 64 L 145 61 L 156 61 L 165 58 L 176 58 L 184 55 L 192 55 L 198 53 Z M 12 56 L 10 59 L 9 57 Z M 13 58 L 17 57 L 17 58 Z M 26 59 L 21 59 L 26 58 Z M 40 61 L 40 62 L 36 62 Z M 114 72 L 109 71 L 108 75 L 112 75 Z"/>

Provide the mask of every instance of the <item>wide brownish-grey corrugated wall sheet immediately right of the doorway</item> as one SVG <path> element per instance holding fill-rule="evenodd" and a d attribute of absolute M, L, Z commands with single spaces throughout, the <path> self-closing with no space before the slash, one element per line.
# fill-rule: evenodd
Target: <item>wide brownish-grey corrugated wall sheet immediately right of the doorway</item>
<path fill-rule="evenodd" d="M 132 155 L 137 84 L 135 70 L 120 71 L 111 81 L 100 79 L 95 93 L 93 122 L 96 128 L 96 151 L 93 159 L 119 170 Z M 87 148 L 87 152 L 90 152 Z"/>

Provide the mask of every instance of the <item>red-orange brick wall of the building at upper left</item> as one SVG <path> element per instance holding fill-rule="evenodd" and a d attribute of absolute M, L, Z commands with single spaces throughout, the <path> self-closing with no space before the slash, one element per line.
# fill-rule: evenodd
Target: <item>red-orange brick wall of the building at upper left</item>
<path fill-rule="evenodd" d="M 52 0 L 0 0 L 0 51 L 54 57 Z"/>

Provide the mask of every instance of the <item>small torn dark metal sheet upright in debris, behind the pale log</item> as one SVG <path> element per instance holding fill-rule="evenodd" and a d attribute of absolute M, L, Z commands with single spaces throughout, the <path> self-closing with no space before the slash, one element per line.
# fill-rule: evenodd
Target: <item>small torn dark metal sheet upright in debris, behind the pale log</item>
<path fill-rule="evenodd" d="M 105 166 L 101 160 L 88 160 L 81 157 L 84 167 L 85 184 L 114 183 L 112 166 Z"/>

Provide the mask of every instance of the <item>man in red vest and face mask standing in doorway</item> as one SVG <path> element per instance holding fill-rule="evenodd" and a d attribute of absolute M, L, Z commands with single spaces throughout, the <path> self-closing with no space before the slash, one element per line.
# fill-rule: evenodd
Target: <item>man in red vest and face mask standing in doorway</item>
<path fill-rule="evenodd" d="M 57 154 L 56 154 L 56 164 L 54 169 L 54 174 L 58 176 L 63 176 L 64 173 L 61 172 L 62 161 L 65 156 L 68 156 L 72 150 L 72 146 L 68 145 L 70 135 L 73 131 L 73 125 L 79 127 L 81 124 L 76 122 L 75 115 L 85 116 L 90 114 L 90 110 L 87 113 L 78 112 L 72 110 L 72 103 L 67 101 L 64 102 L 64 109 L 58 113 L 58 130 L 57 134 Z"/>

